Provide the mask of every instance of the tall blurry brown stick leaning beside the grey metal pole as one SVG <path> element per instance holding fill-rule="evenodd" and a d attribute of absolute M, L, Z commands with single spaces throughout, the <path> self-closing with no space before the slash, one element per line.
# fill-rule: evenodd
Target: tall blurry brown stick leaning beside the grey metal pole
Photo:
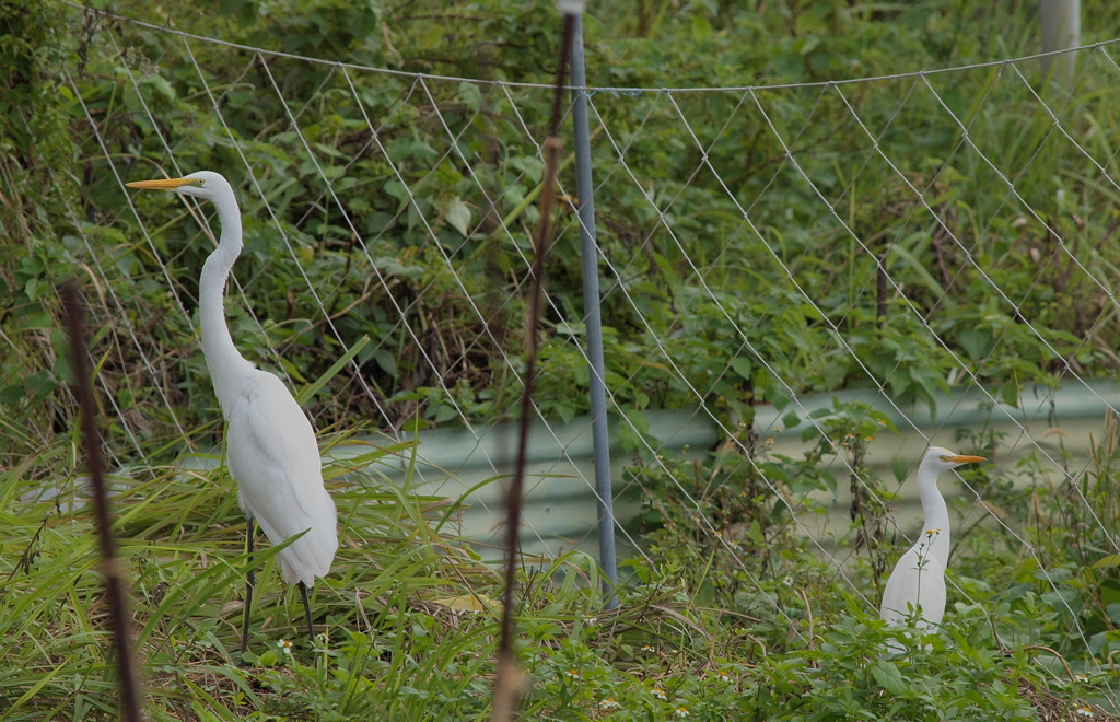
<path fill-rule="evenodd" d="M 544 180 L 541 190 L 541 219 L 536 226 L 529 312 L 525 319 L 525 378 L 521 391 L 521 423 L 517 437 L 517 461 L 506 496 L 506 562 L 505 592 L 502 598 L 502 639 L 497 648 L 497 672 L 494 681 L 494 722 L 508 722 L 517 706 L 521 691 L 521 671 L 513 659 L 513 590 L 516 579 L 517 541 L 521 527 L 521 495 L 525 480 L 529 430 L 533 413 L 533 381 L 536 373 L 536 326 L 544 296 L 544 256 L 552 243 L 552 205 L 556 203 L 557 161 L 563 141 L 560 140 L 560 118 L 563 111 L 564 77 L 568 54 L 575 32 L 576 16 L 566 15 L 563 39 L 560 44 L 560 66 L 557 69 L 556 94 L 552 100 L 552 121 L 549 138 L 544 141 Z"/>

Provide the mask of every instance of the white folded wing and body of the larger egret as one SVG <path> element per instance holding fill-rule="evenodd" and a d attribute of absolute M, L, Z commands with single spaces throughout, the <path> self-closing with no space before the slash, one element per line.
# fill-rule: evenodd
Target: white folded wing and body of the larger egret
<path fill-rule="evenodd" d="M 245 512 L 273 544 L 309 529 L 280 553 L 284 578 L 310 585 L 316 575 L 326 574 L 338 548 L 335 504 L 323 487 L 311 424 L 272 374 L 254 372 L 240 390 L 230 414 L 226 456 Z"/>

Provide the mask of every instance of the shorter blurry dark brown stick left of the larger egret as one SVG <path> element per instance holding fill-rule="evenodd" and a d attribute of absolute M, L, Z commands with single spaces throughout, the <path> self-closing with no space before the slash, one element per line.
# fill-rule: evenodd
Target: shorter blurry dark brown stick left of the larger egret
<path fill-rule="evenodd" d="M 113 528 L 110 523 L 105 477 L 101 467 L 101 432 L 97 429 L 97 406 L 93 400 L 90 356 L 85 340 L 85 308 L 73 283 L 62 288 L 63 309 L 71 337 L 71 368 L 74 372 L 74 395 L 77 397 L 82 423 L 82 443 L 93 495 L 97 537 L 101 542 L 101 572 L 105 576 L 105 598 L 109 601 L 110 634 L 113 635 L 113 654 L 116 657 L 116 682 L 121 688 L 121 720 L 141 722 L 140 694 L 132 665 L 129 612 L 124 600 L 124 581 L 116 563 Z"/>

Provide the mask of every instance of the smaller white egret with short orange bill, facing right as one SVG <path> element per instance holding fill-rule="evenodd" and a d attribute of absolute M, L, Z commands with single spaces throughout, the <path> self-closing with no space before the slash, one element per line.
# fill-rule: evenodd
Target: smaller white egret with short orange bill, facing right
<path fill-rule="evenodd" d="M 925 524 L 917 542 L 890 572 L 879 607 L 884 620 L 900 625 L 915 609 L 917 627 L 941 623 L 945 616 L 945 569 L 949 566 L 949 507 L 937 490 L 937 475 L 977 461 L 987 459 L 953 453 L 941 447 L 932 447 L 925 452 L 917 468 L 917 491 L 922 497 Z"/>

